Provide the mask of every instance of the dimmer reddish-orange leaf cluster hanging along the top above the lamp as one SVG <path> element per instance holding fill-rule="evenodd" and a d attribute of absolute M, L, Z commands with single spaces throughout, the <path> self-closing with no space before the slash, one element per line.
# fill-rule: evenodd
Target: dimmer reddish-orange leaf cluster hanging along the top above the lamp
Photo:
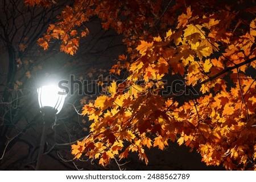
<path fill-rule="evenodd" d="M 26 0 L 27 6 L 54 5 L 57 1 L 52 0 Z M 171 2 L 158 1 L 100 1 L 80 0 L 66 6 L 57 16 L 57 22 L 51 24 L 47 32 L 38 40 L 38 44 L 48 49 L 52 40 L 60 40 L 60 50 L 73 55 L 79 47 L 80 37 L 88 35 L 85 23 L 90 17 L 97 16 L 102 20 L 102 28 L 113 28 L 117 33 L 122 33 L 123 42 L 127 45 L 127 52 L 136 54 L 134 51 L 138 40 L 152 40 L 152 32 L 155 34 L 163 31 L 174 23 L 170 18 L 176 15 L 180 6 L 171 7 Z M 168 7 L 168 8 L 167 8 Z M 167 11 L 168 10 L 168 11 Z M 170 16 L 172 14 L 172 16 Z M 155 29 L 160 24 L 162 28 Z M 154 34 L 153 33 L 153 34 Z"/>

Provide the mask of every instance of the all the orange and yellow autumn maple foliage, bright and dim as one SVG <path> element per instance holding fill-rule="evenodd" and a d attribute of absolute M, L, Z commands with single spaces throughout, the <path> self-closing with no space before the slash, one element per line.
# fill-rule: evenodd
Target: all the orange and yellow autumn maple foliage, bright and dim
<path fill-rule="evenodd" d="M 25 1 L 30 6 L 44 1 Z M 49 1 L 53 2 L 53 1 Z M 122 33 L 127 55 L 110 70 L 109 95 L 84 105 L 90 134 L 72 145 L 75 158 L 103 166 L 170 141 L 195 149 L 208 165 L 256 169 L 256 18 L 244 1 L 75 1 L 61 12 L 38 44 L 53 39 L 74 54 L 91 16 Z M 255 5 L 255 4 L 254 4 Z M 184 83 L 171 87 L 170 78 Z M 169 87 L 170 88 L 170 87 Z"/>

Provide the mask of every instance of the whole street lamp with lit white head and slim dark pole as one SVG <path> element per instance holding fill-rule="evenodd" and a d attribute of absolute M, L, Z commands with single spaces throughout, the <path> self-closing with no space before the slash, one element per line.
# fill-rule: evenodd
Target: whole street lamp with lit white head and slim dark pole
<path fill-rule="evenodd" d="M 57 115 L 63 108 L 65 97 L 64 90 L 54 84 L 48 84 L 40 86 L 38 88 L 38 103 L 41 112 L 44 115 L 43 120 L 43 132 L 40 142 L 38 160 L 36 162 L 36 170 L 40 170 L 42 157 L 44 153 L 44 145 L 46 143 L 47 136 L 47 124 L 51 124 L 53 116 Z"/>

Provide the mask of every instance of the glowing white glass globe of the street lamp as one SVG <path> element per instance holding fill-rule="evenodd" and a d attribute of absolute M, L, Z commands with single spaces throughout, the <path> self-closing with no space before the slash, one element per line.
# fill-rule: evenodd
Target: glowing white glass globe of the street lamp
<path fill-rule="evenodd" d="M 57 110 L 57 115 L 61 111 L 65 97 L 67 96 L 67 94 L 61 95 L 59 92 L 64 92 L 64 90 L 55 85 L 39 87 L 38 101 L 40 108 L 52 107 Z"/>

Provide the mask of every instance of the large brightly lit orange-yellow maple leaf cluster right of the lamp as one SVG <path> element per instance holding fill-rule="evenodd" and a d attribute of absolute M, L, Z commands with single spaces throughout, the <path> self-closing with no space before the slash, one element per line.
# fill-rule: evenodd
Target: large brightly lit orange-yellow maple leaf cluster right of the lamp
<path fill-rule="evenodd" d="M 130 65 L 126 81 L 113 82 L 111 96 L 99 96 L 84 106 L 82 114 L 93 121 L 92 134 L 72 146 L 76 158 L 85 153 L 105 165 L 117 154 L 122 159 L 136 151 L 147 163 L 144 147 L 163 150 L 171 140 L 195 148 L 207 164 L 223 162 L 228 170 L 255 163 L 256 82 L 245 74 L 250 66 L 256 68 L 256 52 L 251 51 L 255 35 L 251 31 L 230 41 L 231 33 L 216 31 L 219 20 L 204 17 L 196 24 L 199 18 L 189 22 L 192 17 L 188 8 L 179 16 L 177 29 L 164 39 L 141 41 L 141 56 Z M 221 44 L 225 52 L 215 57 Z M 187 87 L 200 87 L 203 95 L 189 95 L 191 99 L 179 106 L 177 98 L 161 96 L 164 75 L 177 73 Z M 143 84 L 138 85 L 138 79 Z"/>

